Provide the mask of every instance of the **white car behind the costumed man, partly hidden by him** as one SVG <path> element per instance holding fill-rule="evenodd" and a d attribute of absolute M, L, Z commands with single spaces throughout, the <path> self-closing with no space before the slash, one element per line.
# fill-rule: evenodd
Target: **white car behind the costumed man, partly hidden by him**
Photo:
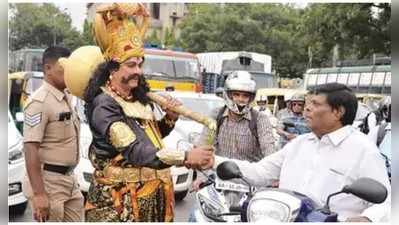
<path fill-rule="evenodd" d="M 162 93 L 161 93 L 162 94 Z M 210 116 L 212 111 L 216 108 L 222 107 L 224 101 L 222 98 L 214 94 L 202 94 L 193 92 L 168 92 L 172 97 L 180 100 L 184 106 L 190 108 L 195 112 L 199 112 Z M 79 117 L 81 118 L 81 133 L 80 133 L 80 149 L 81 157 L 78 166 L 75 168 L 75 173 L 78 176 L 80 189 L 82 192 L 87 192 L 92 180 L 92 167 L 88 159 L 88 147 L 91 143 L 92 136 L 84 115 L 82 101 L 76 101 L 76 108 Z M 163 112 L 159 112 L 163 113 Z M 157 113 L 158 114 L 158 113 Z M 158 115 L 162 116 L 162 115 Z M 172 132 L 163 139 L 166 148 L 178 149 L 178 144 L 181 141 L 189 141 L 189 134 L 200 133 L 203 125 L 188 118 L 181 116 L 176 122 L 175 128 Z M 171 168 L 172 179 L 175 190 L 175 199 L 177 201 L 183 200 L 187 195 L 191 183 L 194 179 L 193 170 L 187 169 L 184 166 Z"/>

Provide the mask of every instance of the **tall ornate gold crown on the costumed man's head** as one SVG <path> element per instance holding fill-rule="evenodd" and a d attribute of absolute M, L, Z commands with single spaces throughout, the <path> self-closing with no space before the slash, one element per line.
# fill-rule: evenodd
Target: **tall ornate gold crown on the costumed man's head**
<path fill-rule="evenodd" d="M 94 36 L 104 58 L 122 63 L 130 57 L 144 56 L 143 40 L 149 18 L 141 3 L 100 5 L 94 20 Z"/>

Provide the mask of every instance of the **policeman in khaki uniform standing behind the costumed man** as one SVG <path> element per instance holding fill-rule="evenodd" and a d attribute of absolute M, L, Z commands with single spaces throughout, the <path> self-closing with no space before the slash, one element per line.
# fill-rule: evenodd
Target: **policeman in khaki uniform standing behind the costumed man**
<path fill-rule="evenodd" d="M 84 199 L 73 176 L 79 161 L 79 120 L 58 62 L 69 55 L 57 46 L 44 51 L 43 85 L 24 109 L 27 175 L 22 188 L 39 222 L 84 220 Z"/>

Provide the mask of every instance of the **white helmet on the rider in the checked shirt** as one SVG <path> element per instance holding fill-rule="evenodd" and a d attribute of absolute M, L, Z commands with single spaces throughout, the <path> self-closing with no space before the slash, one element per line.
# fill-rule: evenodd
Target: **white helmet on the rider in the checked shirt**
<path fill-rule="evenodd" d="M 252 95 L 248 104 L 236 104 L 229 96 L 230 91 L 243 91 Z M 249 104 L 254 100 L 256 93 L 256 83 L 252 76 L 247 71 L 234 71 L 226 79 L 225 92 L 223 97 L 226 101 L 226 106 L 236 114 L 243 115 L 249 112 Z"/>

